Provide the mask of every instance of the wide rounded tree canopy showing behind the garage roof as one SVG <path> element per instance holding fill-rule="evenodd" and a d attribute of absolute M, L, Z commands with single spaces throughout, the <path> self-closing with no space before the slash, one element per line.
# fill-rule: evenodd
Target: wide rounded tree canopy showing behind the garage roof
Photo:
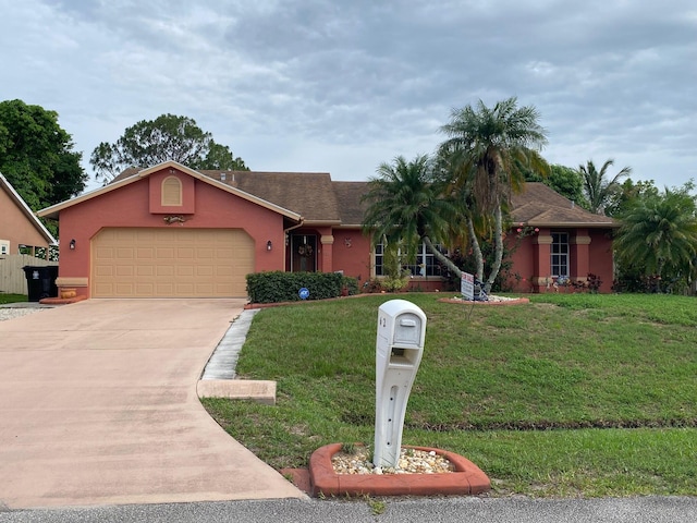
<path fill-rule="evenodd" d="M 142 120 L 127 127 L 114 144 L 100 143 L 89 163 L 97 180 L 106 184 L 130 167 L 147 168 L 168 160 L 192 169 L 249 170 L 228 146 L 217 144 L 193 119 L 174 114 Z"/>

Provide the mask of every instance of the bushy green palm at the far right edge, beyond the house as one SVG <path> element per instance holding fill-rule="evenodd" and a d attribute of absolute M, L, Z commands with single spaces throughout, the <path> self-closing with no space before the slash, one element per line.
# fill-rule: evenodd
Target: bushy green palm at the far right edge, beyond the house
<path fill-rule="evenodd" d="M 662 280 L 694 276 L 697 205 L 687 187 L 639 196 L 622 217 L 614 248 L 620 264 Z"/>

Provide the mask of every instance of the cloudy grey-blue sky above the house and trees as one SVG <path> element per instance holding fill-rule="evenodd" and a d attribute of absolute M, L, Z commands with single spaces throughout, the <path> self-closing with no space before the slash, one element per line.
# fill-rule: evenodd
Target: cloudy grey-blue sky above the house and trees
<path fill-rule="evenodd" d="M 253 170 L 366 180 L 516 96 L 553 163 L 697 180 L 695 0 L 0 0 L 0 99 L 57 111 L 89 173 L 172 113 Z"/>

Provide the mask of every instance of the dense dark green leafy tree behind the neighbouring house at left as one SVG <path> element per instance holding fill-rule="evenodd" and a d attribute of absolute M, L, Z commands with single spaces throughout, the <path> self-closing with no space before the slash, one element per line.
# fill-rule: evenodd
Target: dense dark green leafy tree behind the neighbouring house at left
<path fill-rule="evenodd" d="M 88 179 L 81 160 L 56 111 L 0 102 L 0 172 L 32 209 L 78 195 Z"/>

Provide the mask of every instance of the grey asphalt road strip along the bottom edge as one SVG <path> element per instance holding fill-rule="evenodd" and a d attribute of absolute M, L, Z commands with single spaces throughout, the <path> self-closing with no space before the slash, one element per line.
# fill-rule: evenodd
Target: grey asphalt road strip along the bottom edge
<path fill-rule="evenodd" d="M 380 514 L 375 508 L 383 504 Z M 697 497 L 619 499 L 426 498 L 129 504 L 3 511 L 1 523 L 188 522 L 695 523 Z"/>

